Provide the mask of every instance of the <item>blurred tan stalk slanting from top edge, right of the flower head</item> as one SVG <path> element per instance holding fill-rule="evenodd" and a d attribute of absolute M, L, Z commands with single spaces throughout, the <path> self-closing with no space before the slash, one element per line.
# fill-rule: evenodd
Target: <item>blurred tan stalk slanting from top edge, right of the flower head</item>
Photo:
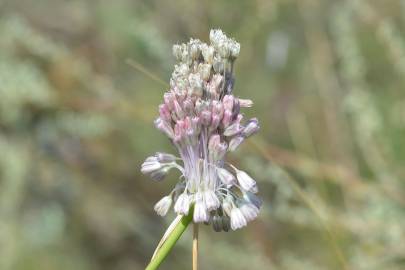
<path fill-rule="evenodd" d="M 339 113 L 342 100 L 338 76 L 334 70 L 334 54 L 330 40 L 323 24 L 313 20 L 314 14 L 321 13 L 320 1 L 297 1 L 298 10 L 304 23 L 303 31 L 308 46 L 308 57 L 311 64 L 312 74 L 319 94 L 319 104 L 323 111 L 329 147 L 326 151 L 332 151 L 334 155 L 346 166 L 356 167 L 356 161 L 350 155 L 350 130 L 349 123 Z M 339 103 L 340 102 L 340 103 Z M 325 151 L 325 150 L 324 150 Z M 349 154 L 347 154 L 349 153 Z"/>

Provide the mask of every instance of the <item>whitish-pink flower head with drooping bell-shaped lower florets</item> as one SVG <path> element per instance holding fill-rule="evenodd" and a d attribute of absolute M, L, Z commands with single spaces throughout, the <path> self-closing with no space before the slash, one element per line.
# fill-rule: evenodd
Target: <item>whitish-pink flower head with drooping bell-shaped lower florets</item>
<path fill-rule="evenodd" d="M 240 113 L 252 101 L 233 95 L 233 65 L 239 51 L 239 43 L 221 30 L 211 30 L 209 45 L 191 39 L 173 46 L 178 63 L 155 126 L 169 137 L 180 157 L 156 153 L 141 169 L 157 181 L 170 169 L 181 172 L 174 189 L 155 205 L 161 216 L 172 205 L 177 214 L 187 215 L 194 205 L 194 222 L 228 231 L 246 226 L 259 213 L 255 180 L 225 161 L 228 151 L 259 130 L 256 118 L 243 121 Z"/>

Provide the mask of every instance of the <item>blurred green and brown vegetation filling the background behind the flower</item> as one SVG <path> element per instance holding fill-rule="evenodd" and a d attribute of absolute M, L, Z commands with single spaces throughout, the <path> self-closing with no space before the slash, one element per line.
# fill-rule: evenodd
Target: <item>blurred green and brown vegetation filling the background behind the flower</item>
<path fill-rule="evenodd" d="M 0 269 L 143 269 L 177 175 L 154 129 L 171 45 L 241 43 L 262 130 L 229 158 L 260 218 L 201 232 L 201 269 L 405 269 L 405 1 L 0 1 Z M 161 269 L 191 268 L 186 232 Z"/>

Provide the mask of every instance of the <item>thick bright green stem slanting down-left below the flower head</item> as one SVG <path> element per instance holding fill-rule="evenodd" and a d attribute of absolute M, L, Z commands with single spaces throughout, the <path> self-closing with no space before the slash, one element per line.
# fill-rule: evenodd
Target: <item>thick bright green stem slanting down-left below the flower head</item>
<path fill-rule="evenodd" d="M 190 213 L 187 216 L 183 216 L 180 222 L 176 225 L 173 231 L 167 236 L 166 241 L 162 244 L 159 250 L 156 252 L 155 257 L 150 261 L 148 266 L 145 270 L 155 270 L 159 267 L 159 265 L 163 262 L 163 260 L 167 257 L 170 250 L 174 247 L 177 240 L 179 240 L 180 236 L 186 230 L 187 226 L 193 220 L 193 211 L 192 207 L 190 209 Z"/>

